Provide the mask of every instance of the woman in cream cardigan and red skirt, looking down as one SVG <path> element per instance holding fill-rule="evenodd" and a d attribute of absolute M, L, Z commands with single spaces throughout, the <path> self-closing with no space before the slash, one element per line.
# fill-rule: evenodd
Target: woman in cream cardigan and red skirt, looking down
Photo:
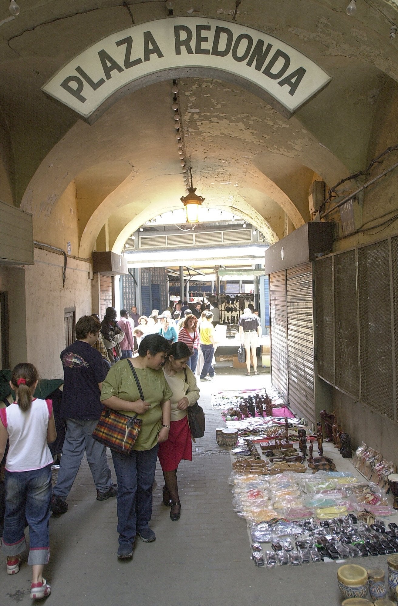
<path fill-rule="evenodd" d="M 177 468 L 181 459 L 192 461 L 192 441 L 187 408 L 199 399 L 199 388 L 192 370 L 186 363 L 191 356 L 189 347 L 173 343 L 164 364 L 164 376 L 173 392 L 169 438 L 159 444 L 158 457 L 163 470 L 163 503 L 171 506 L 170 518 L 177 522 L 181 515 L 178 496 Z"/>

